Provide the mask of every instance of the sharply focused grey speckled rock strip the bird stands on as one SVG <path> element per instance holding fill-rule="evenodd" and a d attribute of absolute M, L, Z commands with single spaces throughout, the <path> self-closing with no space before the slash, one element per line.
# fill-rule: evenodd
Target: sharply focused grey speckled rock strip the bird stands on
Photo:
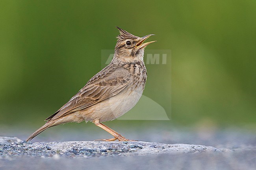
<path fill-rule="evenodd" d="M 212 146 L 195 144 L 163 144 L 143 141 L 69 141 L 26 143 L 17 137 L 0 137 L 0 157 L 99 157 L 114 155 L 179 154 L 223 152 Z"/>

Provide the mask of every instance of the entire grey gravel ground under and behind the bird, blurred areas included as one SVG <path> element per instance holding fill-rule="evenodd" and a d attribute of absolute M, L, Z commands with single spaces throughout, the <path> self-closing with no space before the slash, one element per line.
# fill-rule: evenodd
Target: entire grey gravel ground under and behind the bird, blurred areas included
<path fill-rule="evenodd" d="M 125 137 L 150 142 L 92 143 L 89 141 L 110 136 L 95 126 L 76 126 L 75 131 L 69 126 L 56 126 L 33 139 L 32 142 L 36 143 L 23 141 L 33 130 L 1 127 L 1 135 L 14 135 L 22 140 L 0 140 L 0 170 L 255 170 L 256 167 L 255 132 L 243 129 L 187 130 L 169 126 L 143 129 L 142 125 L 138 130 L 138 127 L 129 126 L 127 129 L 125 125 L 117 125 L 111 127 Z M 64 144 L 64 147 L 59 144 Z M 92 144 L 97 144 L 98 148 Z M 13 151 L 19 153 L 15 155 Z"/>

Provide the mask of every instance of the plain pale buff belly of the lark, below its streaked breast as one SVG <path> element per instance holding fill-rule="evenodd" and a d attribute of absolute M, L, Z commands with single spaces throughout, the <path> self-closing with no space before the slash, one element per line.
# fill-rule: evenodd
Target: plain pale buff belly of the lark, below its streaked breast
<path fill-rule="evenodd" d="M 112 121 L 131 110 L 137 104 L 143 93 L 142 88 L 136 91 L 123 90 L 110 99 L 97 103 L 86 110 L 76 112 L 74 115 L 85 121 Z"/>

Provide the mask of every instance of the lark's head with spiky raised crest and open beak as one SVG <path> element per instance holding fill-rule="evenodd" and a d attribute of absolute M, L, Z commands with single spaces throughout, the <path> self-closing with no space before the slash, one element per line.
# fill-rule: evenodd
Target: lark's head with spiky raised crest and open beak
<path fill-rule="evenodd" d="M 145 42 L 147 38 L 154 34 L 144 37 L 137 37 L 127 31 L 117 27 L 120 35 L 117 36 L 117 45 L 115 46 L 115 57 L 124 62 L 134 62 L 135 60 L 143 60 L 144 49 L 148 44 L 156 41 Z"/>

